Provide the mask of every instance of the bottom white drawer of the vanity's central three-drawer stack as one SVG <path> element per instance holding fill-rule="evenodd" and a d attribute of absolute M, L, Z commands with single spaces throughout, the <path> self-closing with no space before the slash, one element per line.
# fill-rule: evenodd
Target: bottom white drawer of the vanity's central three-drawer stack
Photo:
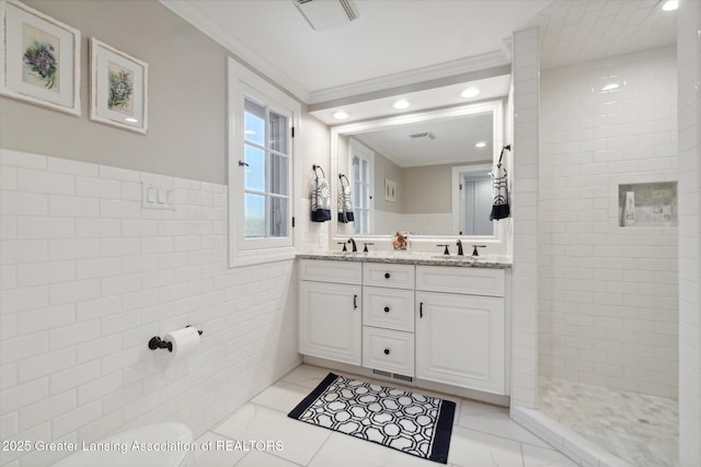
<path fill-rule="evenodd" d="M 414 376 L 414 335 L 364 326 L 363 366 Z"/>

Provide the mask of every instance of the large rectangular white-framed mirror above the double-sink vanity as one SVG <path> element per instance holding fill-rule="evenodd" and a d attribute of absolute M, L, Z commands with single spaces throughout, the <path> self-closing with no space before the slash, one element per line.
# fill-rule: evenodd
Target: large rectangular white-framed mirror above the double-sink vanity
<path fill-rule="evenodd" d="M 501 242 L 489 215 L 503 118 L 491 101 L 333 127 L 334 191 L 353 208 L 334 215 L 336 235 Z"/>

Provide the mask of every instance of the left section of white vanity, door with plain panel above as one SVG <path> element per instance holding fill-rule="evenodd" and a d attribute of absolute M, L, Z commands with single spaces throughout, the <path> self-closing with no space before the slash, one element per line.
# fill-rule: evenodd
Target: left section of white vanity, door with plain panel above
<path fill-rule="evenodd" d="M 302 259 L 299 277 L 299 352 L 360 365 L 361 265 Z"/>

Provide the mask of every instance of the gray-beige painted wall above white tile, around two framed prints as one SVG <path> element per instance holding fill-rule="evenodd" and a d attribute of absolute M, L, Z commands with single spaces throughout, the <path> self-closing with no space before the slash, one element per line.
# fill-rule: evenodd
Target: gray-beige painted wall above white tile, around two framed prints
<path fill-rule="evenodd" d="M 82 33 L 80 117 L 0 97 L 7 149 L 225 184 L 227 50 L 156 0 L 26 0 Z M 149 63 L 147 136 L 89 119 L 89 39 Z"/>

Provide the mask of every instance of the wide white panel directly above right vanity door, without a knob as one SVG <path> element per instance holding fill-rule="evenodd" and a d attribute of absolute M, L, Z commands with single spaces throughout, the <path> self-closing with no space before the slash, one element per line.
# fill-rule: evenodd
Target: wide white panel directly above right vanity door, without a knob
<path fill-rule="evenodd" d="M 504 296 L 504 269 L 417 266 L 416 290 Z"/>

